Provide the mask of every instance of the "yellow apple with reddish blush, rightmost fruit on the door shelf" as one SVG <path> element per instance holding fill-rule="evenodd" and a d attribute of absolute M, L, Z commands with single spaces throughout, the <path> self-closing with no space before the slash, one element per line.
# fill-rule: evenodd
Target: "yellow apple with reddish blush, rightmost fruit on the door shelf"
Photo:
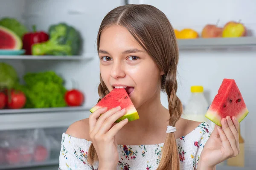
<path fill-rule="evenodd" d="M 227 22 L 223 28 L 222 37 L 245 37 L 247 30 L 245 26 L 236 21 Z"/>

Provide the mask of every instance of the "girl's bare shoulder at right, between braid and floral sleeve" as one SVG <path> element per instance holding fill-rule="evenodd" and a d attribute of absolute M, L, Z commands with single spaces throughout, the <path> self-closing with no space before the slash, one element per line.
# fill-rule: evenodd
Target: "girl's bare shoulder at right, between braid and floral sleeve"
<path fill-rule="evenodd" d="M 196 122 L 196 121 L 192 121 L 192 120 L 187 120 L 187 119 L 183 119 L 180 118 L 180 120 L 177 122 L 177 128 L 182 129 L 180 131 L 180 135 L 179 136 L 185 136 L 187 134 L 189 134 L 190 132 L 192 132 L 192 130 L 194 130 L 196 127 L 198 127 L 202 122 Z"/>

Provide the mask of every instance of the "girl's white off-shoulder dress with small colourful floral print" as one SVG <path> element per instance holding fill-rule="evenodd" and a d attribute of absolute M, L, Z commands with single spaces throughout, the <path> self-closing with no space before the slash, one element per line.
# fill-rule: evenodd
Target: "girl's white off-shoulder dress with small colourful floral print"
<path fill-rule="evenodd" d="M 212 128 L 202 122 L 192 132 L 176 139 L 180 159 L 180 170 L 196 170 L 204 144 L 209 139 Z M 59 170 L 97 170 L 87 163 L 87 151 L 91 142 L 63 133 Z M 116 170 L 156 170 L 161 159 L 163 144 L 118 145 L 119 162 Z M 110 155 L 111 156 L 111 155 Z"/>

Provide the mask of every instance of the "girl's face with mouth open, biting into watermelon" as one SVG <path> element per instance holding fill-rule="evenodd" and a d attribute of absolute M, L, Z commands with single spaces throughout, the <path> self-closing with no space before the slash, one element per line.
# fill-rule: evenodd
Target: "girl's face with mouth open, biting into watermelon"
<path fill-rule="evenodd" d="M 160 70 L 126 28 L 105 28 L 98 52 L 100 73 L 109 91 L 126 87 L 135 108 L 159 93 Z"/>

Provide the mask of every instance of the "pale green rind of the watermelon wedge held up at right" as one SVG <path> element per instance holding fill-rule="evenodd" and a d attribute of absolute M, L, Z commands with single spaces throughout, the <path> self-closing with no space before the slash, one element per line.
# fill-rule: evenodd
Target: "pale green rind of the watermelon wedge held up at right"
<path fill-rule="evenodd" d="M 242 120 L 244 120 L 244 118 L 248 115 L 249 111 L 247 108 L 243 109 L 243 111 L 241 111 L 240 113 L 238 113 L 236 117 L 236 119 L 238 120 L 238 122 L 242 122 Z M 207 119 L 211 120 L 213 123 L 215 123 L 218 126 L 221 126 L 221 117 L 218 116 L 219 113 L 217 111 L 212 111 L 210 108 L 208 109 L 207 113 L 205 114 L 205 117 L 207 117 Z"/>

